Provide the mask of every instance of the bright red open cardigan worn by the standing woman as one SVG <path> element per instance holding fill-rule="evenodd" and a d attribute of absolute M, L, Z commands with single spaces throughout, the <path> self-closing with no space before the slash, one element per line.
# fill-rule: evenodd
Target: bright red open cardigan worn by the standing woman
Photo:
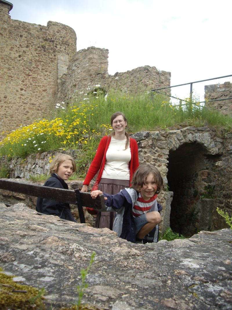
<path fill-rule="evenodd" d="M 105 157 L 106 157 L 106 152 L 108 150 L 109 144 L 110 144 L 110 140 L 111 140 L 111 136 L 109 136 L 108 139 L 108 143 L 107 143 L 107 136 L 104 136 L 97 148 L 97 153 L 95 155 L 95 157 L 93 158 L 93 161 L 88 169 L 86 178 L 83 182 L 83 184 L 89 185 L 90 181 L 92 180 L 92 178 L 94 177 L 94 175 L 96 175 L 97 171 L 100 169 L 101 167 L 101 162 L 103 160 L 103 164 L 101 167 L 101 171 L 100 171 L 100 179 L 101 179 L 101 175 L 102 172 L 104 170 L 104 166 L 105 166 Z M 131 148 L 131 160 L 129 162 L 129 166 L 130 166 L 130 183 L 132 180 L 132 176 L 135 172 L 135 170 L 138 168 L 139 166 L 139 153 L 138 153 L 138 144 L 136 142 L 135 139 L 129 138 L 130 139 L 130 148 Z"/>

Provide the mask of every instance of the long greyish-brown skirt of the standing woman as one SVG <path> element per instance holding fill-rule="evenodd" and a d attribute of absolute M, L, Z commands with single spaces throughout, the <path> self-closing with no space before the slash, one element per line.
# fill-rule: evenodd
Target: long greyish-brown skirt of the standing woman
<path fill-rule="evenodd" d="M 98 184 L 98 189 L 102 192 L 114 195 L 120 192 L 121 189 L 128 188 L 130 186 L 129 180 L 114 180 L 101 178 Z M 116 212 L 97 212 L 94 227 L 97 228 L 109 228 L 113 229 L 113 223 Z"/>

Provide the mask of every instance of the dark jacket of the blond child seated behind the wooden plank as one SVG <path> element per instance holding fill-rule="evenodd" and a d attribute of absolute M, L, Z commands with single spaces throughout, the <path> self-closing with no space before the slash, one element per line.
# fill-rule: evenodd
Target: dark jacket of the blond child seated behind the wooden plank
<path fill-rule="evenodd" d="M 67 183 L 65 183 L 63 179 L 60 179 L 55 173 L 53 173 L 50 178 L 45 181 L 44 186 L 68 189 Z M 61 201 L 38 197 L 36 211 L 44 214 L 56 215 L 61 219 L 76 222 L 71 214 L 69 204 Z"/>

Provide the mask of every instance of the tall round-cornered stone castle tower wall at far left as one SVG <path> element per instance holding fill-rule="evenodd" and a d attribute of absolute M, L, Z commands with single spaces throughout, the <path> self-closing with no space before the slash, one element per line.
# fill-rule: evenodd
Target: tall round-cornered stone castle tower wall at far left
<path fill-rule="evenodd" d="M 0 132 L 47 117 L 54 107 L 58 74 L 66 72 L 76 52 L 70 27 L 11 20 L 9 9 L 0 2 Z"/>

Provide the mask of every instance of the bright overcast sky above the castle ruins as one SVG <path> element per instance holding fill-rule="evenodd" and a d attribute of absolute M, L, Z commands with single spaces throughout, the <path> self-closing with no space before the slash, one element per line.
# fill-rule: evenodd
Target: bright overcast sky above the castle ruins
<path fill-rule="evenodd" d="M 171 72 L 171 85 L 232 74 L 231 0 L 8 0 L 11 19 L 75 30 L 77 51 L 109 49 L 109 74 L 144 65 Z M 194 84 L 232 82 L 232 77 Z M 197 86 L 196 86 L 197 85 Z M 188 97 L 190 86 L 173 88 Z"/>

